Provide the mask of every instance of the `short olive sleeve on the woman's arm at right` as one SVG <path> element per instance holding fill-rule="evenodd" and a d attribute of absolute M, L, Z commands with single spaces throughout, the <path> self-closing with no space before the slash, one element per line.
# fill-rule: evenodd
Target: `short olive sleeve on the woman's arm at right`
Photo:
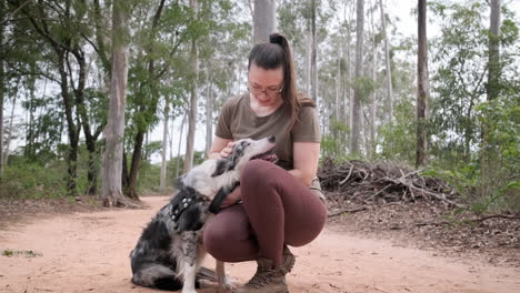
<path fill-rule="evenodd" d="M 313 107 L 303 107 L 291 131 L 293 142 L 320 142 L 320 120 Z"/>

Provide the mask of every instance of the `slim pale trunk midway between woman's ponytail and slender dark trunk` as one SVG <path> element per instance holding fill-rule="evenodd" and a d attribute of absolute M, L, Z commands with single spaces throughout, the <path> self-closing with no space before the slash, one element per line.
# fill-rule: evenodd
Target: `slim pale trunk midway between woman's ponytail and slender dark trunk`
<path fill-rule="evenodd" d="M 364 26 L 364 0 L 357 0 L 357 24 L 356 24 L 356 83 L 362 75 L 363 65 L 363 26 Z M 350 152 L 357 154 L 360 151 L 361 137 L 361 90 L 359 85 L 354 87 L 352 104 L 352 137 L 350 140 Z"/>

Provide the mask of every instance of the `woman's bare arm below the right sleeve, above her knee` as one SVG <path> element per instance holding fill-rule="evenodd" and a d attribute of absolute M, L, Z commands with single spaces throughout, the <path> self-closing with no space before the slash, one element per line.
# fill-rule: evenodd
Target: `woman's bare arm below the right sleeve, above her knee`
<path fill-rule="evenodd" d="M 293 170 L 289 173 L 300 179 L 303 184 L 310 186 L 318 172 L 320 159 L 319 142 L 294 142 L 292 146 Z"/>

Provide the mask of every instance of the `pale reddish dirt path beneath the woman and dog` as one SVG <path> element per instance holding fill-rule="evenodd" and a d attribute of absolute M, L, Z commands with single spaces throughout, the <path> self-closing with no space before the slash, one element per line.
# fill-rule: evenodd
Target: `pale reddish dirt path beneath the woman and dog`
<path fill-rule="evenodd" d="M 14 252 L 0 255 L 0 292 L 158 292 L 130 282 L 129 252 L 168 199 L 143 201 L 151 208 L 61 215 L 0 231 L 0 254 Z M 288 282 L 296 293 L 520 292 L 520 269 L 461 263 L 330 229 L 293 252 L 298 259 Z M 213 265 L 210 257 L 206 262 Z M 227 270 L 243 282 L 254 265 L 227 264 Z"/>

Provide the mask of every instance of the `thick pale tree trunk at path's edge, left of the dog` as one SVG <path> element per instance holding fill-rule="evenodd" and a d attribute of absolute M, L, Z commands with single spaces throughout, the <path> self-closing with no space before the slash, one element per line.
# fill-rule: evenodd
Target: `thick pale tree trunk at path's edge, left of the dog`
<path fill-rule="evenodd" d="M 127 13 L 123 0 L 113 0 L 112 8 L 112 73 L 110 107 L 104 129 L 101 198 L 104 206 L 126 205 L 121 190 L 124 142 L 124 109 L 128 79 Z"/>

